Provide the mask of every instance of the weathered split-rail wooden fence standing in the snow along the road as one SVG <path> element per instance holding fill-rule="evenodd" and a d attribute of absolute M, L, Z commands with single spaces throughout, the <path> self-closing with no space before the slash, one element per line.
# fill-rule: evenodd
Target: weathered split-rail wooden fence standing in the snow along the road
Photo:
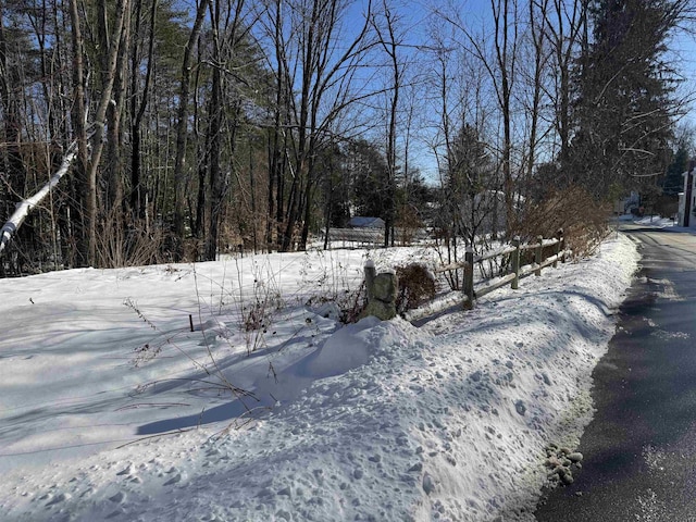
<path fill-rule="evenodd" d="M 548 256 L 551 247 L 554 247 L 554 253 Z M 531 252 L 533 254 L 533 261 L 531 263 L 523 263 L 523 252 Z M 463 306 L 465 309 L 470 309 L 473 307 L 475 299 L 490 294 L 493 290 L 505 285 L 509 284 L 512 289 L 518 289 L 520 279 L 532 274 L 537 276 L 542 275 L 542 269 L 549 265 L 556 268 L 559 261 L 566 262 L 566 257 L 569 253 L 570 251 L 566 250 L 563 231 L 559 231 L 557 237 L 545 239 L 538 236 L 536 243 L 525 245 L 521 244 L 520 237 L 518 236 L 512 240 L 511 245 L 483 256 L 474 256 L 471 249 L 467 249 L 463 262 L 440 266 L 434 271 L 436 274 L 453 271 L 463 272 L 463 289 L 458 291 L 456 298 L 443 299 L 440 306 L 434 302 L 415 310 L 409 310 L 403 316 L 407 321 L 418 321 L 453 306 Z M 510 256 L 510 272 L 500 277 L 483 279 L 478 282 L 477 285 L 474 285 L 475 265 L 504 256 Z"/>

